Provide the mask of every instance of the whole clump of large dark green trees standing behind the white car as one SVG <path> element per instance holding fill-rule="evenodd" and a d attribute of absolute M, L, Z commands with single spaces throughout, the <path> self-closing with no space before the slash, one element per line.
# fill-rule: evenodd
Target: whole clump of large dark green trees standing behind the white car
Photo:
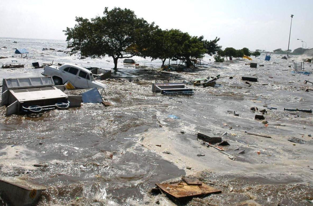
<path fill-rule="evenodd" d="M 179 59 L 192 67 L 192 59 L 203 58 L 205 54 L 214 55 L 220 51 L 220 38 L 205 40 L 203 36 L 191 36 L 177 29 L 162 30 L 149 24 L 143 18 L 136 17 L 129 9 L 105 8 L 103 17 L 91 20 L 76 17 L 74 28 L 64 30 L 67 35 L 67 48 L 70 55 L 102 58 L 111 56 L 114 69 L 117 61 L 133 56 L 151 57 L 152 60 Z"/>

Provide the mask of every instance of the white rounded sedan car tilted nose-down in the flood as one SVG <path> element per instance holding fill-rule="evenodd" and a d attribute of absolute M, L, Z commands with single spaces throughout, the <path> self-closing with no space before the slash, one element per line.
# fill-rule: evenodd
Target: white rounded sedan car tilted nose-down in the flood
<path fill-rule="evenodd" d="M 70 81 L 76 88 L 108 88 L 105 84 L 95 81 L 91 71 L 73 64 L 64 64 L 59 68 L 46 66 L 42 74 L 51 76 L 55 85 L 63 85 Z"/>

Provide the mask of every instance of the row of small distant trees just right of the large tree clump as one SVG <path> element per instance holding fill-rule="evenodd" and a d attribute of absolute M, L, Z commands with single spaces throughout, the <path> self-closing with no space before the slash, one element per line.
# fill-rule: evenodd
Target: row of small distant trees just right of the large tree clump
<path fill-rule="evenodd" d="M 248 48 L 244 47 L 242 49 L 234 49 L 233 47 L 227 47 L 224 50 L 218 50 L 217 54 L 214 56 L 214 59 L 216 62 L 223 62 L 224 57 L 226 57 L 226 60 L 231 58 L 243 58 L 245 56 L 260 56 L 261 53 L 256 52 L 250 52 Z"/>

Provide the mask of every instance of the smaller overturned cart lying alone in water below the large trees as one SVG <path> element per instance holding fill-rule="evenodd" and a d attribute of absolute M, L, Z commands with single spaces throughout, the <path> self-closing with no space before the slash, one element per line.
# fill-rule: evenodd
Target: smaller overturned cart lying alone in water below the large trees
<path fill-rule="evenodd" d="M 164 95 L 193 95 L 191 88 L 183 83 L 155 83 L 152 84 L 152 92 L 160 92 Z"/>

